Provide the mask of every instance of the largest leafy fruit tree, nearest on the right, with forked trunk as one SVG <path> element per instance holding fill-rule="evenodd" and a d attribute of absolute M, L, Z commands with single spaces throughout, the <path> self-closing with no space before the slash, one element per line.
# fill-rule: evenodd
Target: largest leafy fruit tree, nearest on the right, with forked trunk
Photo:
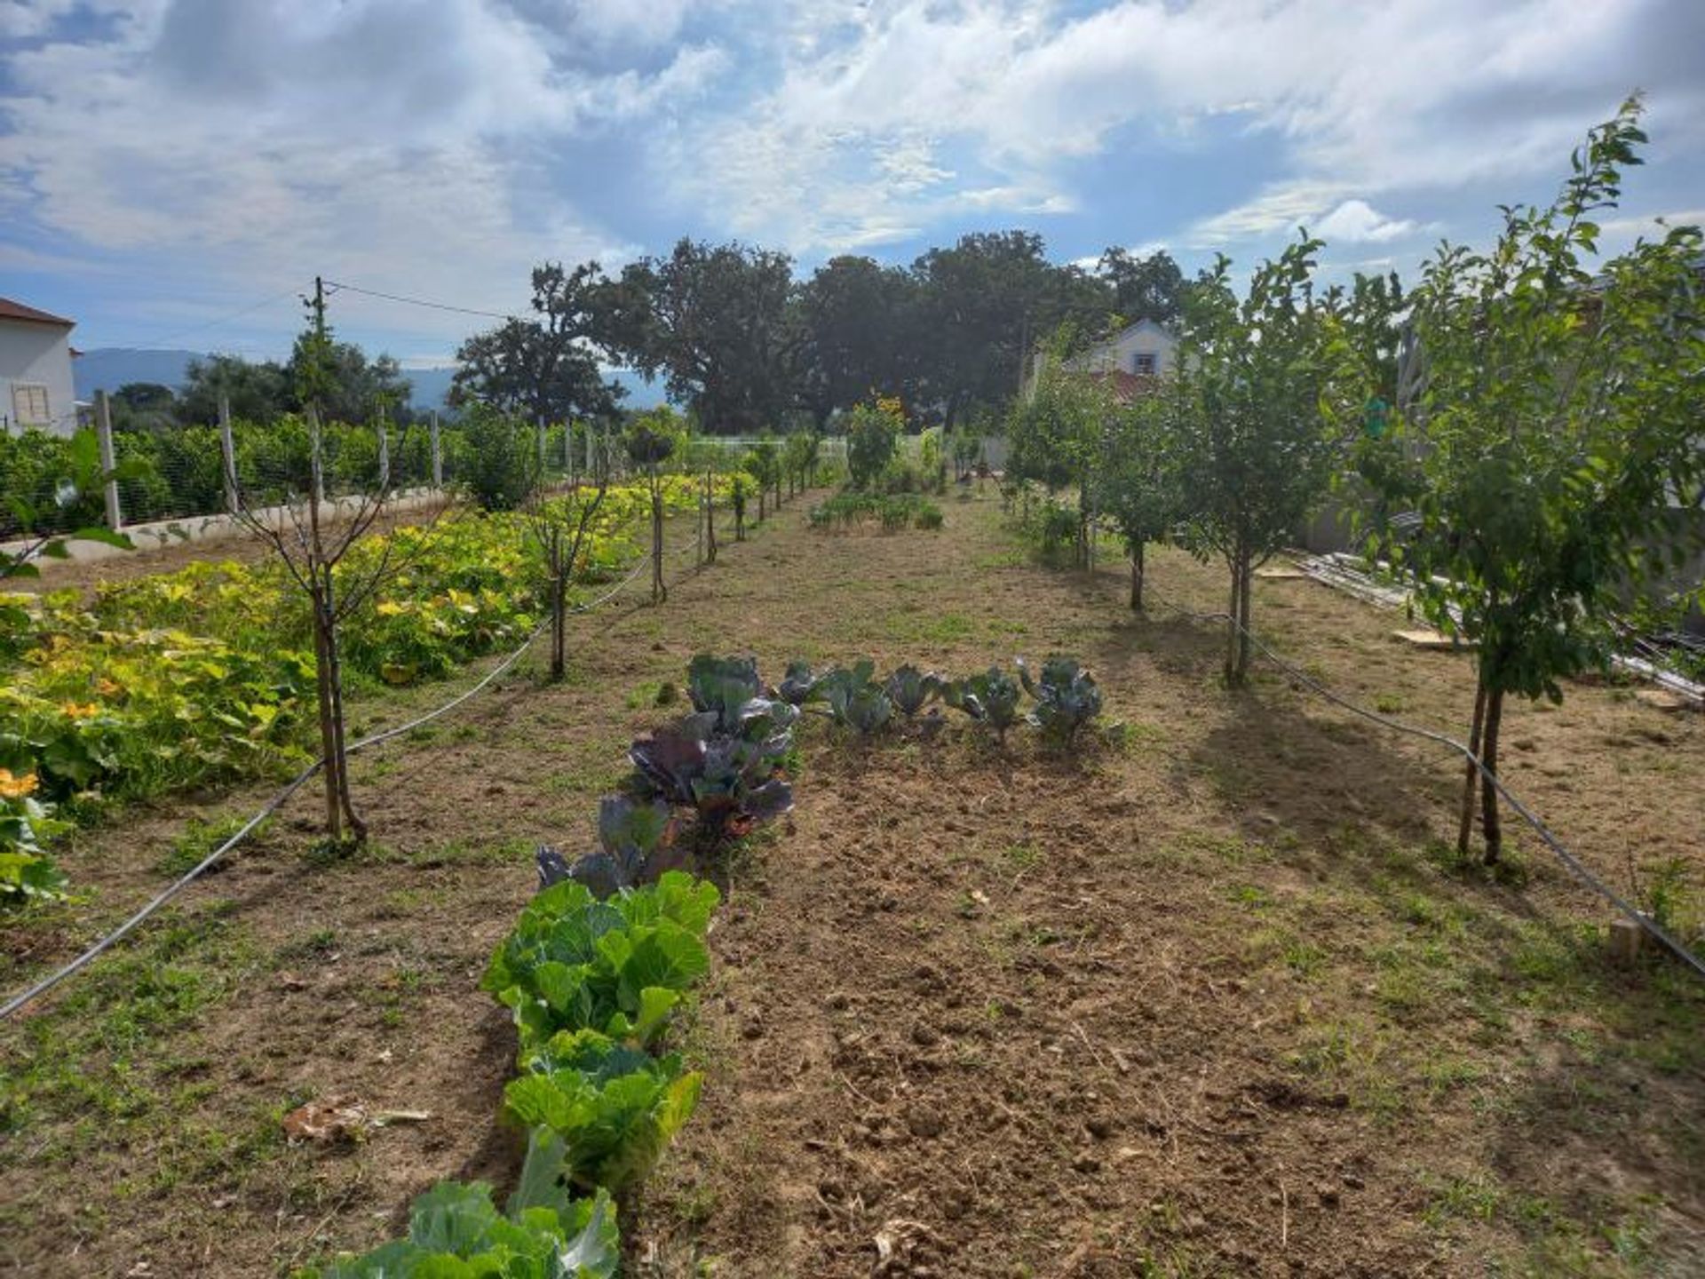
<path fill-rule="evenodd" d="M 1606 663 L 1611 614 L 1700 530 L 1700 229 L 1598 261 L 1594 215 L 1640 164 L 1639 116 L 1630 99 L 1587 135 L 1550 206 L 1506 208 L 1488 252 L 1437 251 L 1412 295 L 1420 385 L 1361 445 L 1381 496 L 1373 544 L 1427 619 L 1477 648 L 1485 771 L 1468 764 L 1458 846 L 1478 783 L 1488 863 L 1506 694 L 1560 701 L 1563 677 Z"/>

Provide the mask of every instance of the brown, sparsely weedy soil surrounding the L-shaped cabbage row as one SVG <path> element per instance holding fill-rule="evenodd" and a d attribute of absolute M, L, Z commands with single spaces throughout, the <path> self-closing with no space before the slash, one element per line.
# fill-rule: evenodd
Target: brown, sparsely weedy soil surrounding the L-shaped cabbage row
<path fill-rule="evenodd" d="M 1117 564 L 1033 564 L 992 498 L 899 535 L 812 532 L 801 505 L 667 605 L 581 619 L 566 686 L 523 667 L 363 757 L 365 854 L 317 854 L 298 796 L 0 1030 L 0 1274 L 280 1274 L 396 1233 L 440 1177 L 512 1178 L 513 1039 L 479 972 L 534 844 L 590 839 L 699 650 L 776 675 L 1071 651 L 1110 723 L 1054 754 L 812 721 L 793 817 L 720 871 L 685 1037 L 704 1102 L 626 1212 L 631 1274 L 1705 1272 L 1705 986 L 1611 965 L 1608 911 L 1524 832 L 1499 875 L 1458 865 L 1442 752 L 1272 667 L 1224 691 L 1214 624 L 1132 616 Z M 1212 566 L 1151 553 L 1149 578 L 1222 607 Z M 1391 640 L 1391 614 L 1279 580 L 1255 619 L 1345 696 L 1466 721 L 1466 660 Z M 1696 909 L 1700 716 L 1570 687 L 1512 706 L 1506 744 L 1587 865 L 1650 890 L 1674 858 L 1673 909 Z M 5 986 L 164 883 L 191 817 L 266 793 L 80 836 L 90 900 L 9 926 Z M 431 1117 L 285 1143 L 288 1108 L 336 1095 Z"/>

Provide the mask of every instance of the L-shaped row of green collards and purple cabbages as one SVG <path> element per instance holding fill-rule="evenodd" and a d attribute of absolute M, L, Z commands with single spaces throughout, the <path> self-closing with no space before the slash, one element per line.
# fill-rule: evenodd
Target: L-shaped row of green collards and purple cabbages
<path fill-rule="evenodd" d="M 696 657 L 692 713 L 633 744 L 634 773 L 600 802 L 597 851 L 573 865 L 539 851 L 542 887 L 486 969 L 483 987 L 512 1011 L 518 1039 L 503 1115 L 529 1134 L 506 1207 L 484 1182 L 440 1182 L 414 1201 L 407 1238 L 305 1279 L 614 1276 L 614 1201 L 655 1166 L 702 1086 L 667 1045 L 709 967 L 721 895 L 685 868 L 714 871 L 731 841 L 793 807 L 803 709 L 822 706 L 864 737 L 943 697 L 1004 740 L 1020 686 L 1035 697 L 1030 721 L 1061 745 L 1101 708 L 1089 674 L 1062 657 L 1035 677 L 1020 662 L 1018 682 L 999 668 L 950 682 L 905 665 L 876 680 L 868 660 L 822 675 L 795 662 L 774 691 L 752 658 Z"/>

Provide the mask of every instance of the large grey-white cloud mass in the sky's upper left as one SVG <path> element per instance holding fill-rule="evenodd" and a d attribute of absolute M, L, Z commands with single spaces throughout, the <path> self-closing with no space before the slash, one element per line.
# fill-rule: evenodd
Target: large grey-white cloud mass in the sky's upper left
<path fill-rule="evenodd" d="M 517 309 L 540 258 L 634 251 L 556 194 L 549 143 L 689 107 L 723 70 L 702 46 L 646 68 L 564 68 L 496 0 L 162 2 L 111 39 L 9 56 L 0 217 L 256 292 L 321 273 Z"/>

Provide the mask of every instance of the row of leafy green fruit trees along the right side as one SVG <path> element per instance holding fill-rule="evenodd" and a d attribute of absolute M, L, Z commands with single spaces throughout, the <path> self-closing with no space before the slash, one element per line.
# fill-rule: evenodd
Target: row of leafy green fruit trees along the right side
<path fill-rule="evenodd" d="M 1091 372 L 1112 348 L 1067 327 L 1008 420 L 1006 496 L 1045 489 L 1033 529 L 1079 568 L 1117 530 L 1132 609 L 1149 542 L 1226 566 L 1228 686 L 1255 651 L 1255 570 L 1337 496 L 1415 611 L 1475 653 L 1458 851 L 1478 807 L 1488 863 L 1506 701 L 1562 701 L 1565 679 L 1608 670 L 1630 602 L 1679 619 L 1700 600 L 1705 234 L 1599 252 L 1639 116 L 1627 102 L 1552 205 L 1506 208 L 1487 252 L 1442 246 L 1408 292 L 1395 275 L 1325 286 L 1306 234 L 1241 292 L 1221 258 L 1151 373 Z"/>

